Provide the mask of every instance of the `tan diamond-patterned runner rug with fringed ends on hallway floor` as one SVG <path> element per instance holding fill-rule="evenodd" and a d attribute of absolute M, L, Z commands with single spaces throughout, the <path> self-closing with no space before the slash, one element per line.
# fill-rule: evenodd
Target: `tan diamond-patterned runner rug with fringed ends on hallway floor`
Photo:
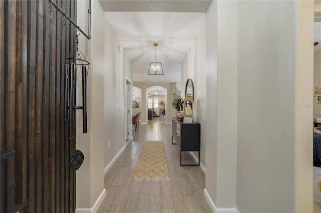
<path fill-rule="evenodd" d="M 132 177 L 135 180 L 170 180 L 163 141 L 145 141 Z"/>

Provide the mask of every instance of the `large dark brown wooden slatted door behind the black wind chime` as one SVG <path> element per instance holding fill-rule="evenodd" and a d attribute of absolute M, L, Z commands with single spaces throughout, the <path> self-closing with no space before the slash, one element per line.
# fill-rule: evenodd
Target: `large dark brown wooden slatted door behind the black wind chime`
<path fill-rule="evenodd" d="M 76 20 L 76 0 L 55 2 Z M 63 116 L 64 58 L 75 33 L 49 5 L 0 1 L 0 212 L 75 211 L 76 140 Z"/>

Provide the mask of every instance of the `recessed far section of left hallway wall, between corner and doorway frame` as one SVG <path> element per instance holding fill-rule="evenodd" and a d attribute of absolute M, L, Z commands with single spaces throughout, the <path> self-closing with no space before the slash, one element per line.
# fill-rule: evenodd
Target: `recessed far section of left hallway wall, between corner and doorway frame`
<path fill-rule="evenodd" d="M 119 44 L 118 38 L 111 28 L 108 21 L 105 24 L 105 167 L 112 161 L 115 155 L 121 150 L 126 143 L 125 135 L 125 88 L 126 77 L 130 71 L 130 65 L 125 61 L 128 58 L 125 56 L 124 51 L 118 51 L 117 45 Z M 127 75 L 127 76 L 126 76 Z M 108 141 L 110 147 L 108 148 Z"/>

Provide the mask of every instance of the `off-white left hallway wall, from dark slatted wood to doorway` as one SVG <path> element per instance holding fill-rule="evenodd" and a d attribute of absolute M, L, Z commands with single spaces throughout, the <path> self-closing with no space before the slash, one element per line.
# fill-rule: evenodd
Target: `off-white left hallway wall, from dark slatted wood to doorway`
<path fill-rule="evenodd" d="M 88 133 L 82 133 L 82 116 L 77 113 L 77 148 L 83 151 L 85 159 L 77 170 L 76 212 L 95 210 L 99 205 L 96 201 L 105 193 L 104 169 L 125 145 L 126 78 L 132 79 L 131 62 L 124 52 L 118 51 L 118 39 L 99 1 L 91 2 L 92 37 L 87 40 L 80 36 L 79 45 L 91 64 L 88 73 Z M 78 1 L 77 11 L 87 11 L 86 4 L 87 1 Z M 88 28 L 87 16 L 77 17 L 78 24 Z M 107 146 L 109 140 L 110 148 Z"/>

